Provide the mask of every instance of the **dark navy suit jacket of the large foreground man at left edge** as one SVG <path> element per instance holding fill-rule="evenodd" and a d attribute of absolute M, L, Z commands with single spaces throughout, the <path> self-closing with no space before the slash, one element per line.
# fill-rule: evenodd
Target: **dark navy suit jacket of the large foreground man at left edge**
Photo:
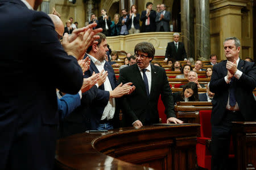
<path fill-rule="evenodd" d="M 14 0 L 2 0 L 0 13 L 0 169 L 53 169 L 56 88 L 77 94 L 82 70 L 46 13 Z"/>

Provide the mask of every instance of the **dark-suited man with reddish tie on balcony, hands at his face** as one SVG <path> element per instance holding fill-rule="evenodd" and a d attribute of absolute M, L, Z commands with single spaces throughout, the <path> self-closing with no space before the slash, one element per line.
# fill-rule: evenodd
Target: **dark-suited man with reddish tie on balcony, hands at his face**
<path fill-rule="evenodd" d="M 146 10 L 142 11 L 141 13 L 141 32 L 155 32 L 156 13 L 154 10 L 152 10 L 152 6 L 152 2 L 147 2 Z"/>

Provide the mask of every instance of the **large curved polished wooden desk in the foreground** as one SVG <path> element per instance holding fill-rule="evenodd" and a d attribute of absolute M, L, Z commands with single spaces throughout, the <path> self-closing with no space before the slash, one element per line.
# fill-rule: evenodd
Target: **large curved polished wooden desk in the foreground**
<path fill-rule="evenodd" d="M 195 169 L 198 124 L 151 125 L 57 140 L 57 169 Z M 137 165 L 135 165 L 137 164 Z M 143 167 L 144 166 L 144 167 Z"/>

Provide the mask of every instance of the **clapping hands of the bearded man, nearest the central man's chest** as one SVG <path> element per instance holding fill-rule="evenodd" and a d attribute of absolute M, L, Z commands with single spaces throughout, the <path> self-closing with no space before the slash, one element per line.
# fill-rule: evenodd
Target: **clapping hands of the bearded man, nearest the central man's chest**
<path fill-rule="evenodd" d="M 119 84 L 114 90 L 109 92 L 109 98 L 119 98 L 122 97 L 125 94 L 130 94 L 130 92 L 133 92 L 133 87 L 130 86 L 132 83 L 126 83 L 126 84 Z"/>

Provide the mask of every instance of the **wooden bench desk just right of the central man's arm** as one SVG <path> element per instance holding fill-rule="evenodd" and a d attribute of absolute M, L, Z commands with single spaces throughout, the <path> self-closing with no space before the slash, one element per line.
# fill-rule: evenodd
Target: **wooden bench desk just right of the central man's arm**
<path fill-rule="evenodd" d="M 177 102 L 174 107 L 176 117 L 184 123 L 199 123 L 200 110 L 212 110 L 211 102 Z"/>

